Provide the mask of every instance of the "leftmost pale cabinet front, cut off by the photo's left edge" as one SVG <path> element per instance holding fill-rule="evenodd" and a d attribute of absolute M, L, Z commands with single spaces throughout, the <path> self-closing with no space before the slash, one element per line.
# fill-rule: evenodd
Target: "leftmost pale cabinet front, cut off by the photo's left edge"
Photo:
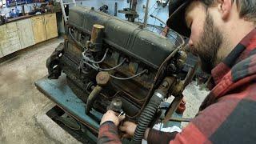
<path fill-rule="evenodd" d="M 3 37 L 0 40 L 2 56 L 14 53 L 21 49 L 21 44 L 18 38 L 18 29 L 16 22 L 10 22 L 2 25 L 1 28 Z"/>

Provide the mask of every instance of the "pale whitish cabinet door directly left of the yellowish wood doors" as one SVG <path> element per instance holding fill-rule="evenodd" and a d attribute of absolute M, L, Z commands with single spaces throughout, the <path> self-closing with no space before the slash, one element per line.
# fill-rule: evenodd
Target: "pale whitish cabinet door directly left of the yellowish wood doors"
<path fill-rule="evenodd" d="M 17 27 L 22 48 L 34 45 L 34 34 L 30 18 L 18 21 Z"/>

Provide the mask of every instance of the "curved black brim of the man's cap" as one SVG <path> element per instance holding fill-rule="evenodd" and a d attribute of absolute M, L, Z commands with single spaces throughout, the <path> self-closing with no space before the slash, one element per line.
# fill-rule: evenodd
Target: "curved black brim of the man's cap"
<path fill-rule="evenodd" d="M 170 29 L 186 37 L 190 37 L 191 30 L 186 26 L 185 12 L 190 2 L 184 2 L 173 14 L 170 15 L 166 24 Z"/>

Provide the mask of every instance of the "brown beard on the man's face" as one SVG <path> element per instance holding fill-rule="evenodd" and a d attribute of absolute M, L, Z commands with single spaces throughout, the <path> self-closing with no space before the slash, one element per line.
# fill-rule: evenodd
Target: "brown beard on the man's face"
<path fill-rule="evenodd" d="M 202 36 L 198 43 L 195 43 L 192 53 L 199 56 L 202 70 L 208 74 L 214 69 L 222 42 L 222 33 L 214 26 L 214 20 L 210 14 L 206 13 Z"/>

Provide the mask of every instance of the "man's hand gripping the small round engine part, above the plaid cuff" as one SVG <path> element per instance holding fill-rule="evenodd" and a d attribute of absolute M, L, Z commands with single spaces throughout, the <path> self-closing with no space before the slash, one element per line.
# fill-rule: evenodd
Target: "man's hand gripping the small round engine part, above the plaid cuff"
<path fill-rule="evenodd" d="M 112 110 L 108 110 L 102 117 L 102 121 L 100 123 L 100 125 L 102 125 L 102 123 L 110 121 L 110 122 L 114 122 L 115 126 L 118 126 L 119 123 L 125 119 L 126 117 L 124 115 L 121 115 L 120 117 L 118 117 L 118 113 L 115 113 Z"/>

